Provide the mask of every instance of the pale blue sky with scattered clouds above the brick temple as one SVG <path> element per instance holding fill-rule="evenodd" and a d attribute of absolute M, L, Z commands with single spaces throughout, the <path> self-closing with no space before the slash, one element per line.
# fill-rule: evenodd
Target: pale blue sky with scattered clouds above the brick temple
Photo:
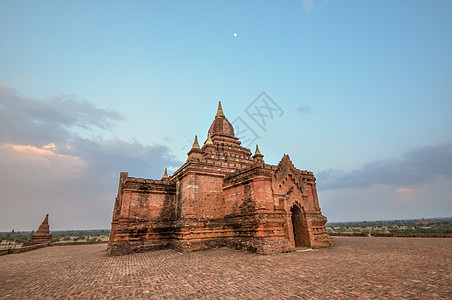
<path fill-rule="evenodd" d="M 451 12 L 0 0 L 0 230 L 46 212 L 54 229 L 109 228 L 119 172 L 175 171 L 218 100 L 267 163 L 316 174 L 330 221 L 451 216 Z M 282 110 L 264 129 L 246 113 L 262 92 Z"/>

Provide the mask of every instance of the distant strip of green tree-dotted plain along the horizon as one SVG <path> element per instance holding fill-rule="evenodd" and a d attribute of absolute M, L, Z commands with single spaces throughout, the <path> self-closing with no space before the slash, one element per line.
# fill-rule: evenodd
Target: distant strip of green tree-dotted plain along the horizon
<path fill-rule="evenodd" d="M 328 233 L 333 235 L 353 234 L 374 236 L 375 234 L 424 234 L 452 233 L 452 217 L 389 220 L 389 221 L 357 221 L 327 223 Z M 0 249 L 17 248 L 30 239 L 34 231 L 0 232 Z M 110 229 L 94 230 L 57 230 L 52 231 L 55 243 L 74 242 L 107 242 Z"/>

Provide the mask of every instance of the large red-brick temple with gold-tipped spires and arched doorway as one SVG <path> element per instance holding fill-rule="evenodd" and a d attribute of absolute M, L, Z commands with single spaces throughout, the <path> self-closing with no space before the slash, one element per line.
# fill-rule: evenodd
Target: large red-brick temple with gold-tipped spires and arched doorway
<path fill-rule="evenodd" d="M 160 180 L 122 172 L 108 252 L 232 247 L 258 253 L 329 247 L 315 177 L 284 155 L 277 166 L 241 146 L 221 103 L 202 147 Z"/>

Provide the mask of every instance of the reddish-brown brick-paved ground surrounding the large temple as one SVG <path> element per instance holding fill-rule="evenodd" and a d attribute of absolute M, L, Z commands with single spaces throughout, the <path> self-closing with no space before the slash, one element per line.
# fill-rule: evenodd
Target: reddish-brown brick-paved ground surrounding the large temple
<path fill-rule="evenodd" d="M 452 299 L 452 239 L 335 237 L 329 249 L 108 257 L 106 245 L 0 256 L 1 299 Z"/>

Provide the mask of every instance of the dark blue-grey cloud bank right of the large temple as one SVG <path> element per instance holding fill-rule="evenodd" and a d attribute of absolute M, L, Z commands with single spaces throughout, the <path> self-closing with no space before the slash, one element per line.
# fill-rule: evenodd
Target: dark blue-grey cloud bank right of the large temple
<path fill-rule="evenodd" d="M 401 159 L 376 161 L 351 172 L 325 170 L 318 174 L 320 189 L 366 188 L 374 184 L 412 186 L 452 177 L 452 143 L 426 146 Z"/>

